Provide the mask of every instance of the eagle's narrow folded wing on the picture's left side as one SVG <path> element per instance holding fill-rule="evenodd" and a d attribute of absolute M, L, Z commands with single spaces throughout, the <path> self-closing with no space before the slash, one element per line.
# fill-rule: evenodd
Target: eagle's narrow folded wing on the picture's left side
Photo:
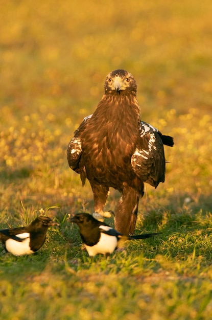
<path fill-rule="evenodd" d="M 81 152 L 82 152 L 80 134 L 81 134 L 81 131 L 86 126 L 86 124 L 89 122 L 89 119 L 91 118 L 91 116 L 92 115 L 85 117 L 83 119 L 83 122 L 80 124 L 79 128 L 74 132 L 74 137 L 72 138 L 72 140 L 70 140 L 67 147 L 68 165 L 71 169 L 73 169 L 77 173 L 80 173 L 79 163 L 80 163 Z"/>

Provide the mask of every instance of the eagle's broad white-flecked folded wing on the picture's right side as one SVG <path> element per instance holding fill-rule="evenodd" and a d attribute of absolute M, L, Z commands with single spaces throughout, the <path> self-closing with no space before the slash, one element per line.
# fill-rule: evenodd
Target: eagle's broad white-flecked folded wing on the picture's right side
<path fill-rule="evenodd" d="M 144 182 L 157 187 L 165 178 L 165 157 L 163 143 L 158 130 L 141 122 L 137 148 L 131 157 L 131 166 L 135 174 Z"/>

